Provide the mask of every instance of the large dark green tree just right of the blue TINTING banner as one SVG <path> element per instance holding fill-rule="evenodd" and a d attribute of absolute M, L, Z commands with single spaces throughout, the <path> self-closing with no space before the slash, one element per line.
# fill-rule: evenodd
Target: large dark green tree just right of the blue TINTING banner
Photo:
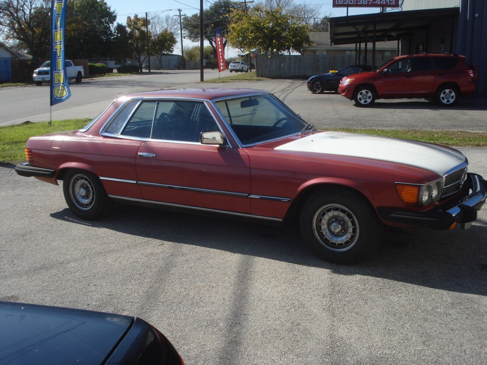
<path fill-rule="evenodd" d="M 66 57 L 101 58 L 111 55 L 115 11 L 103 0 L 68 0 Z"/>

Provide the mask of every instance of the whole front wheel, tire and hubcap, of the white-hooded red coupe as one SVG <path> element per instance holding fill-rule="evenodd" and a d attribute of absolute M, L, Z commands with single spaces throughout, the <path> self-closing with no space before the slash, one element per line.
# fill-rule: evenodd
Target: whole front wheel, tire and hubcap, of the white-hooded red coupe
<path fill-rule="evenodd" d="M 382 229 L 370 203 L 346 189 L 319 190 L 301 209 L 303 240 L 326 261 L 353 264 L 363 260 L 379 245 Z"/>

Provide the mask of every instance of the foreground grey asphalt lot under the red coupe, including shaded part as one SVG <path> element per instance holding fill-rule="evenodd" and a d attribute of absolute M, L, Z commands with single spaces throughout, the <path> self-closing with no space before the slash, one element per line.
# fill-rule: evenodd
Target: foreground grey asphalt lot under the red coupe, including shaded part
<path fill-rule="evenodd" d="M 487 176 L 487 149 L 462 151 Z M 8 168 L 0 186 L 0 300 L 140 316 L 188 365 L 486 363 L 487 210 L 340 266 L 288 229 L 130 206 L 86 222 L 59 186 Z"/>

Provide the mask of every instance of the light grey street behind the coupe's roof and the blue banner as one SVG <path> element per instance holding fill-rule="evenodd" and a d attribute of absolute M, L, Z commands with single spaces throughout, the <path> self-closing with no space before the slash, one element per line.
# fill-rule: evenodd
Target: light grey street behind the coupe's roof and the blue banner
<path fill-rule="evenodd" d="M 227 74 L 230 74 L 226 72 Z M 218 77 L 218 70 L 205 70 L 205 78 Z M 114 98 L 132 92 L 184 87 L 200 80 L 199 70 L 157 71 L 152 74 L 104 77 L 70 82 L 71 98 L 53 107 L 53 120 L 94 118 Z M 0 88 L 0 126 L 26 120 L 49 120 L 49 85 Z"/>

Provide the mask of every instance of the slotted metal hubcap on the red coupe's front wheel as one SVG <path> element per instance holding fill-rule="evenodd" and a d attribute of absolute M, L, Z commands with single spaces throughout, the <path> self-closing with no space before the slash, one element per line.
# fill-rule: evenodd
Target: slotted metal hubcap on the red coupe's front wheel
<path fill-rule="evenodd" d="M 327 204 L 318 209 L 313 218 L 315 237 L 327 249 L 346 251 L 358 239 L 358 222 L 355 215 L 339 204 Z"/>

